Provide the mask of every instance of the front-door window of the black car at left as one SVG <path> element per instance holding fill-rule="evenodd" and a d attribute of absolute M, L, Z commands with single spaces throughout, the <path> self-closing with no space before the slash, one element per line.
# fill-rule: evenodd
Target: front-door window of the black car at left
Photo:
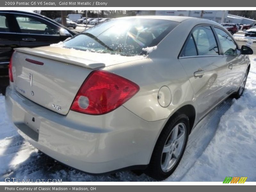
<path fill-rule="evenodd" d="M 29 15 L 15 15 L 21 33 L 38 35 L 58 35 L 60 30 L 46 21 Z"/>

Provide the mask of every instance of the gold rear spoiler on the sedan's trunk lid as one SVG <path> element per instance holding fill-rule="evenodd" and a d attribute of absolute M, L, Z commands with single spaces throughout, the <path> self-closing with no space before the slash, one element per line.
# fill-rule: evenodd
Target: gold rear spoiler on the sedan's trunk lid
<path fill-rule="evenodd" d="M 104 63 L 99 63 L 97 61 L 88 60 L 88 59 L 79 58 L 79 57 L 68 56 L 68 55 L 62 55 L 62 54 L 54 53 L 54 52 L 37 50 L 37 49 L 33 49 L 33 48 L 15 48 L 14 50 L 17 52 L 22 52 L 22 53 L 26 53 L 29 55 L 43 57 L 46 59 L 69 63 L 72 65 L 77 65 L 77 66 L 89 68 L 89 69 L 105 67 Z"/>

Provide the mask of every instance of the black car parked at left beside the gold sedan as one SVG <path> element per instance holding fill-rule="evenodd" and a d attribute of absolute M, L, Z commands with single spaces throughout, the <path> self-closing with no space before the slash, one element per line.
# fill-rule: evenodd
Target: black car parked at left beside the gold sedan
<path fill-rule="evenodd" d="M 0 93 L 9 85 L 8 66 L 13 48 L 58 43 L 76 33 L 33 12 L 0 11 Z"/>

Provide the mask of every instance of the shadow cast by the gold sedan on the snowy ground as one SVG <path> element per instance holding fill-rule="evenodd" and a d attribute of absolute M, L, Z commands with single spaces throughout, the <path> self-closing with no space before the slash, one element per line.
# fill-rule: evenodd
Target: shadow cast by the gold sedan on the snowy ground
<path fill-rule="evenodd" d="M 247 90 L 248 91 L 248 90 Z M 188 139 L 188 145 L 179 166 L 166 181 L 180 181 L 188 170 L 193 167 L 196 160 L 202 155 L 204 150 L 215 135 L 220 122 L 220 117 L 232 105 L 232 98 L 223 101 L 218 107 L 210 112 L 199 124 L 196 125 Z M 15 150 L 14 146 L 17 145 Z M 5 177 L 16 177 L 19 179 L 61 179 L 64 181 L 155 181 L 146 174 L 138 175 L 132 171 L 117 172 L 108 175 L 92 176 L 79 170 L 63 165 L 44 153 L 38 151 L 21 136 L 15 136 L 6 147 L 5 153 L 10 153 L 10 162 L 19 156 L 22 151 L 27 150 L 29 156 L 26 160 L 17 163 L 12 168 L 0 176 L 4 181 Z M 31 152 L 32 151 L 32 152 Z M 25 151 L 26 152 L 26 151 Z M 2 165 L 1 165 L 2 166 Z M 11 166 L 11 165 L 10 165 Z M 10 170 L 9 170 L 10 169 Z"/>

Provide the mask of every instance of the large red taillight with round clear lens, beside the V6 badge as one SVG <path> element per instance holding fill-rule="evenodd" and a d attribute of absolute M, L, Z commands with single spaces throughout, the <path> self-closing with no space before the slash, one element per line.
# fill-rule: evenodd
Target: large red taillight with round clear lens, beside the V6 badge
<path fill-rule="evenodd" d="M 124 77 L 103 70 L 93 71 L 76 94 L 71 110 L 102 115 L 129 100 L 140 87 Z"/>

